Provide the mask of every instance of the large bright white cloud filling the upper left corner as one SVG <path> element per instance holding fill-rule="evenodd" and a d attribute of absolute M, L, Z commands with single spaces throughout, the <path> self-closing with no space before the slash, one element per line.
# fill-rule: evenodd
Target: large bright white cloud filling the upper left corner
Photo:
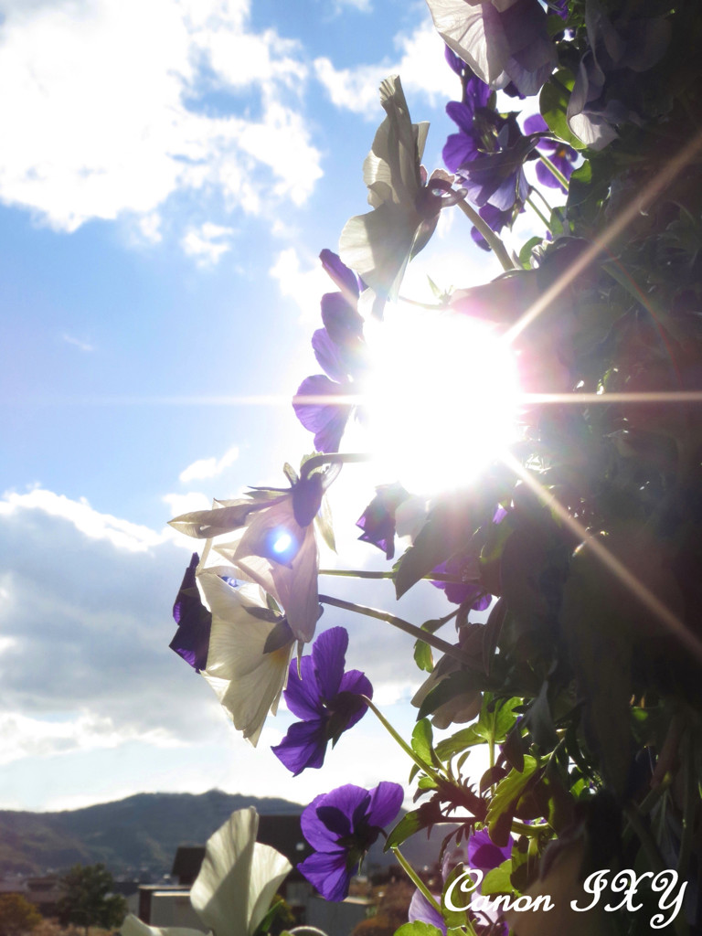
<path fill-rule="evenodd" d="M 0 199 L 66 231 L 131 213 L 153 240 L 176 191 L 214 188 L 244 212 L 262 211 L 262 192 L 304 201 L 320 156 L 283 96 L 306 66 L 295 43 L 249 31 L 249 6 L 5 0 Z M 210 91 L 242 90 L 229 112 L 198 110 Z"/>

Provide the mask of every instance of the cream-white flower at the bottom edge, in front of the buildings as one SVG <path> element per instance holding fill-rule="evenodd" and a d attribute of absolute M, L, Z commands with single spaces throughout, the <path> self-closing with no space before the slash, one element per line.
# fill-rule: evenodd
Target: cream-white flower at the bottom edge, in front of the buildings
<path fill-rule="evenodd" d="M 292 870 L 280 852 L 256 842 L 257 830 L 258 814 L 249 807 L 232 812 L 207 842 L 190 902 L 214 936 L 253 936 Z M 121 931 L 122 936 L 202 936 L 198 929 L 150 927 L 132 914 Z"/>

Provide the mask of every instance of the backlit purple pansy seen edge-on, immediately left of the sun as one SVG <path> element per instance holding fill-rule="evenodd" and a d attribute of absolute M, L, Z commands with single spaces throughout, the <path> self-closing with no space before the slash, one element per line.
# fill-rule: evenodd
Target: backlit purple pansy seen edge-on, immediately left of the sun
<path fill-rule="evenodd" d="M 293 409 L 305 429 L 314 432 L 317 451 L 337 452 L 354 405 L 344 402 L 344 397 L 358 392 L 354 381 L 365 371 L 366 346 L 363 319 L 357 311 L 359 283 L 355 273 L 330 250 L 323 250 L 319 258 L 341 292 L 322 297 L 324 328 L 312 336 L 314 357 L 325 373 L 302 381 Z"/>

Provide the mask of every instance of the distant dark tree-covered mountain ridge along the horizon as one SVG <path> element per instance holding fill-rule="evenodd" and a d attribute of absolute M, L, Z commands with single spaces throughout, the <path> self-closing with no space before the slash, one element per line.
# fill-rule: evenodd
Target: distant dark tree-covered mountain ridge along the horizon
<path fill-rule="evenodd" d="M 168 874 L 179 845 L 204 845 L 212 832 L 234 812 L 255 806 L 261 815 L 299 814 L 300 803 L 276 797 L 244 797 L 210 790 L 190 793 L 139 793 L 113 803 L 65 812 L 0 810 L 0 877 L 44 874 L 71 865 L 103 862 L 116 875 Z M 455 827 L 455 826 L 451 826 Z M 402 845 L 415 866 L 431 865 L 448 828 L 434 829 Z M 382 841 L 373 845 L 366 867 L 389 865 Z"/>

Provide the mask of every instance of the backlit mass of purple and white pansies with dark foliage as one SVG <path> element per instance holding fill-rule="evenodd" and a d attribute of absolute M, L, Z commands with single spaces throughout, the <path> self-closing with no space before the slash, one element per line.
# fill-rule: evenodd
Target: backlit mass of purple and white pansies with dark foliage
<path fill-rule="evenodd" d="M 519 901 L 547 892 L 569 901 L 588 874 L 622 861 L 642 880 L 667 865 L 686 883 L 702 866 L 693 782 L 702 749 L 702 66 L 693 39 L 702 11 L 692 0 L 428 5 L 460 82 L 446 107 L 456 131 L 445 168 L 422 166 L 428 124 L 413 122 L 400 78 L 384 80 L 385 116 L 363 165 L 371 210 L 346 223 L 338 255 L 320 255 L 337 287 L 321 300 L 312 339 L 324 373 L 304 379 L 293 401 L 314 454 L 300 475 L 285 466 L 287 488 L 253 488 L 171 521 L 202 541 L 177 593 L 171 647 L 252 743 L 285 699 L 295 721 L 272 751 L 295 777 L 322 768 L 329 742 L 367 711 L 411 760 L 408 797 L 384 779 L 383 760 L 364 764 L 370 789 L 345 783 L 302 812 L 313 854 L 299 870 L 324 898 L 347 896 L 382 838 L 417 886 L 402 936 L 427 925 L 456 936 L 599 932 L 600 912 L 529 916 Z M 446 322 L 477 330 L 439 354 L 425 341 L 422 366 L 396 377 L 392 412 L 419 449 L 425 441 L 430 450 L 417 457 L 436 477 L 447 437 L 468 445 L 450 456 L 457 472 L 443 488 L 378 468 L 365 508 L 367 496 L 351 503 L 360 486 L 344 489 L 344 515 L 350 507 L 358 538 L 388 564 L 320 572 L 319 537 L 334 543 L 331 482 L 343 464 L 377 467 L 373 452 L 344 451 L 349 418 L 359 434 L 372 422 L 374 335 L 392 334 L 395 318 L 402 325 L 404 271 L 440 212 L 455 208 L 504 271 L 476 284 L 459 266 L 456 287 L 434 285 L 430 307 L 413 303 L 433 334 Z M 526 212 L 538 235 L 530 228 L 521 247 L 506 244 L 505 229 L 516 241 Z M 491 345 L 478 337 L 486 333 Z M 495 345 L 508 357 L 481 368 Z M 431 357 L 441 358 L 433 369 Z M 515 425 L 473 471 L 496 421 L 476 430 L 475 414 L 512 386 L 507 359 Z M 460 383 L 442 395 L 449 360 Z M 426 445 L 407 403 L 415 384 L 432 420 L 448 414 L 446 451 Z M 320 593 L 320 574 L 353 578 L 353 592 Z M 419 620 L 362 603 L 371 578 L 389 579 L 398 599 L 412 591 L 417 600 L 402 607 Z M 343 612 L 344 626 L 319 628 L 323 606 Z M 359 615 L 377 628 L 364 672 L 345 668 Z M 371 678 L 376 687 L 387 678 L 386 626 L 415 640 L 409 742 L 378 707 L 380 693 L 373 699 Z M 404 679 L 402 662 L 392 664 Z M 208 846 L 193 890 L 215 936 L 227 926 L 250 934 L 271 896 L 246 889 L 256 877 L 246 822 L 245 835 L 222 833 L 231 849 Z M 401 849 L 434 828 L 444 860 L 425 883 Z M 241 875 L 221 859 L 227 850 L 248 856 L 234 861 Z M 488 918 L 478 899 L 460 910 L 447 903 L 464 866 L 483 875 L 476 898 L 499 895 L 507 913 Z M 220 905 L 227 875 L 249 895 L 236 909 Z M 640 931 L 632 895 L 612 914 L 622 932 Z M 694 900 L 681 914 L 680 934 Z M 146 929 L 130 920 L 124 933 Z"/>

